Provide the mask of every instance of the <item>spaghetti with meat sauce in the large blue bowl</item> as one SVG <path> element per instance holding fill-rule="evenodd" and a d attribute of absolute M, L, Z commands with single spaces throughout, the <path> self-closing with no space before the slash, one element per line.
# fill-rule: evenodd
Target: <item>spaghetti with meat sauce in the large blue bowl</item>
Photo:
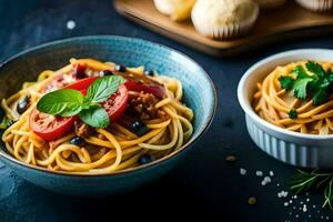
<path fill-rule="evenodd" d="M 125 111 L 117 121 L 111 121 L 108 128 L 91 128 L 77 120 L 73 129 L 56 140 L 39 137 L 29 124 L 37 102 L 47 92 L 56 90 L 57 85 L 59 88 L 74 82 L 72 73 L 78 65 L 84 67 L 84 74 L 88 77 L 95 77 L 105 70 L 114 73 L 115 70 L 112 62 L 71 59 L 69 65 L 58 71 L 41 72 L 37 82 L 23 83 L 19 92 L 2 100 L 6 119 L 14 120 L 4 130 L 2 141 L 8 152 L 19 161 L 50 171 L 103 174 L 147 163 L 142 161 L 142 157 L 149 157 L 153 161 L 169 155 L 181 149 L 191 137 L 193 112 L 181 102 L 181 82 L 157 73 L 149 79 L 161 83 L 165 95 L 158 98 L 151 93 L 129 90 Z M 143 67 L 125 68 L 122 71 L 129 77 L 147 78 Z M 29 105 L 19 113 L 17 108 L 27 95 Z M 144 134 L 135 134 L 129 129 L 133 113 L 145 124 L 148 131 Z M 82 139 L 84 143 L 72 143 L 75 138 Z"/>

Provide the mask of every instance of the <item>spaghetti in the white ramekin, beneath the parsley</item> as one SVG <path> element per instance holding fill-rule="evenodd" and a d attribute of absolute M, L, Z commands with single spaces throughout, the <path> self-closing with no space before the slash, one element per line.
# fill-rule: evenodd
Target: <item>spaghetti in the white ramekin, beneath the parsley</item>
<path fill-rule="evenodd" d="M 253 95 L 253 108 L 262 119 L 274 125 L 307 134 L 332 134 L 332 94 L 327 95 L 325 102 L 314 105 L 313 97 L 297 99 L 294 91 L 281 87 L 281 77 L 295 79 L 293 75 L 294 70 L 297 67 L 306 70 L 306 62 L 293 62 L 274 69 L 262 82 L 258 83 L 258 91 Z M 321 65 L 324 71 L 333 68 L 331 62 L 319 62 L 316 64 Z M 313 77 L 313 73 L 310 74 Z M 296 117 L 293 118 L 293 113 Z"/>

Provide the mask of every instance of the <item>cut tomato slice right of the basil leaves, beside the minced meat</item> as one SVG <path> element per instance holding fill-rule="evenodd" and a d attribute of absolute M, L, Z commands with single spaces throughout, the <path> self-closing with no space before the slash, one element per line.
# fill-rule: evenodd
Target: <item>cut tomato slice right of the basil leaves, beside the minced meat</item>
<path fill-rule="evenodd" d="M 124 84 L 121 84 L 119 90 L 114 92 L 109 100 L 102 102 L 110 121 L 115 121 L 124 112 L 128 105 L 128 88 Z"/>

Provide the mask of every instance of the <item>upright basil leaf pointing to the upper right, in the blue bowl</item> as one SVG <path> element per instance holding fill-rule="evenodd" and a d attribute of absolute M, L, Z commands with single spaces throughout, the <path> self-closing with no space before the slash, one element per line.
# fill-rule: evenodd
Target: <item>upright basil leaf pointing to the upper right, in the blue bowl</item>
<path fill-rule="evenodd" d="M 107 101 L 125 80 L 119 75 L 103 77 L 95 80 L 87 92 L 87 100 L 89 102 L 104 102 Z"/>

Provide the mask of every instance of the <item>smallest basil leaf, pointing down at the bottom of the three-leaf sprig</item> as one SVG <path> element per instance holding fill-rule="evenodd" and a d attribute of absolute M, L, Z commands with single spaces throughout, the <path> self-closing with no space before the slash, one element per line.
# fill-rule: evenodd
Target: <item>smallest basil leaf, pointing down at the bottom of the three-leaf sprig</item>
<path fill-rule="evenodd" d="M 88 109 L 82 110 L 79 117 L 93 128 L 107 128 L 110 124 L 109 115 L 100 104 L 91 104 Z"/>

